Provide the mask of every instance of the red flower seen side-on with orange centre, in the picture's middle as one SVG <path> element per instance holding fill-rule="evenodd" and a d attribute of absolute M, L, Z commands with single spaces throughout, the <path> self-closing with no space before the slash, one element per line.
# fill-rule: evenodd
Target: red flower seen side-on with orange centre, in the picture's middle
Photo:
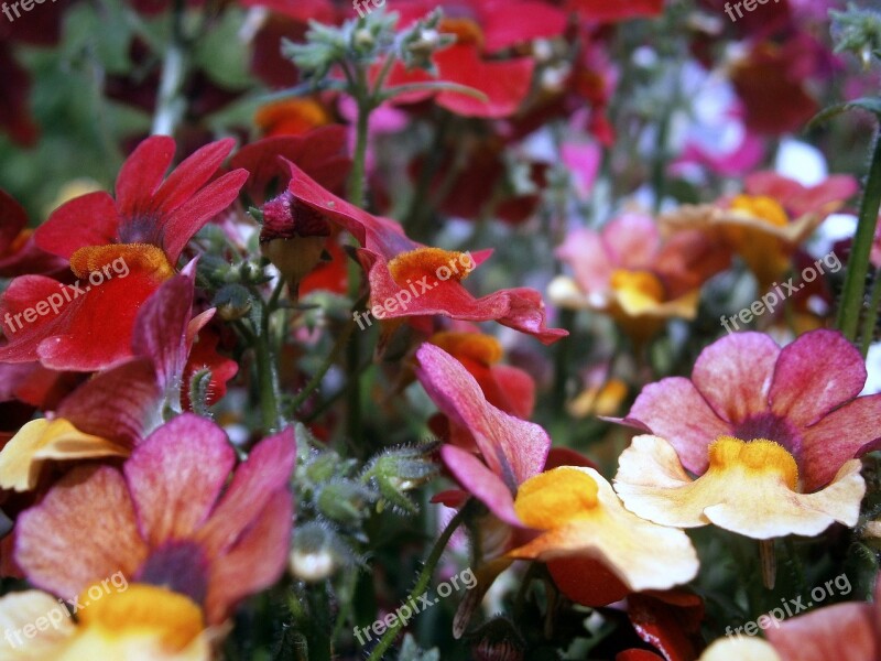
<path fill-rule="evenodd" d="M 292 178 L 287 191 L 296 203 L 337 224 L 363 247 L 358 257 L 368 272 L 369 310 L 377 318 L 403 321 L 439 314 L 470 322 L 494 321 L 533 335 L 543 344 L 568 334 L 545 326 L 544 303 L 535 290 L 500 290 L 475 299 L 461 285 L 489 251 L 469 254 L 422 246 L 409 239 L 395 221 L 368 214 L 322 188 L 293 163 L 289 166 Z M 291 208 L 297 207 L 291 203 Z M 409 300 L 400 304 L 405 296 Z"/>

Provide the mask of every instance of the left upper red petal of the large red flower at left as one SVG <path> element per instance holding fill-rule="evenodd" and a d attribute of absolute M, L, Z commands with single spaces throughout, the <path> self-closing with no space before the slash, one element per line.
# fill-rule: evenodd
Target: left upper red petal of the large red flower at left
<path fill-rule="evenodd" d="M 115 243 L 118 237 L 117 205 L 104 192 L 88 193 L 66 202 L 34 231 L 40 248 L 67 260 L 79 248 Z"/>

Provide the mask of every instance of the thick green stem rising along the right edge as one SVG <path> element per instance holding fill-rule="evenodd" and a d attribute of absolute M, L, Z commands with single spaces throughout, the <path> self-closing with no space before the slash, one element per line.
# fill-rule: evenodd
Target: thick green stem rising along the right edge
<path fill-rule="evenodd" d="M 860 204 L 859 224 L 853 237 L 853 247 L 847 264 L 845 289 L 841 294 L 841 306 L 838 308 L 838 328 L 850 342 L 857 340 L 864 301 L 866 277 L 869 273 L 869 258 L 874 241 L 878 212 L 881 208 L 881 132 L 875 137 L 872 162 L 869 166 L 869 178 Z M 870 314 L 873 311 L 870 311 Z M 866 342 L 866 338 L 863 338 Z"/>

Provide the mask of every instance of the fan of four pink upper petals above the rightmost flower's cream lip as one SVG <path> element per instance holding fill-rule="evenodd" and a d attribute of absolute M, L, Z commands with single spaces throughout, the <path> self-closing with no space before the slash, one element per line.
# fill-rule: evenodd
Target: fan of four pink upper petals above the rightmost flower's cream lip
<path fill-rule="evenodd" d="M 666 438 L 697 475 L 719 436 L 773 441 L 813 491 L 879 446 L 881 394 L 857 397 L 866 378 L 860 353 L 837 332 L 813 330 L 783 349 L 761 333 L 735 334 L 704 349 L 690 380 L 646 386 L 623 422 Z"/>

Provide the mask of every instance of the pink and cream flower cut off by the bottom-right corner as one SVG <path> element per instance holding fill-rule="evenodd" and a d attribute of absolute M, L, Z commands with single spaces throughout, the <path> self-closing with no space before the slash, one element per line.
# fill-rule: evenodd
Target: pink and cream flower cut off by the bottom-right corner
<path fill-rule="evenodd" d="M 874 604 L 836 604 L 777 622 L 768 641 L 736 636 L 714 642 L 700 661 L 877 661 L 881 654 L 881 582 Z"/>

